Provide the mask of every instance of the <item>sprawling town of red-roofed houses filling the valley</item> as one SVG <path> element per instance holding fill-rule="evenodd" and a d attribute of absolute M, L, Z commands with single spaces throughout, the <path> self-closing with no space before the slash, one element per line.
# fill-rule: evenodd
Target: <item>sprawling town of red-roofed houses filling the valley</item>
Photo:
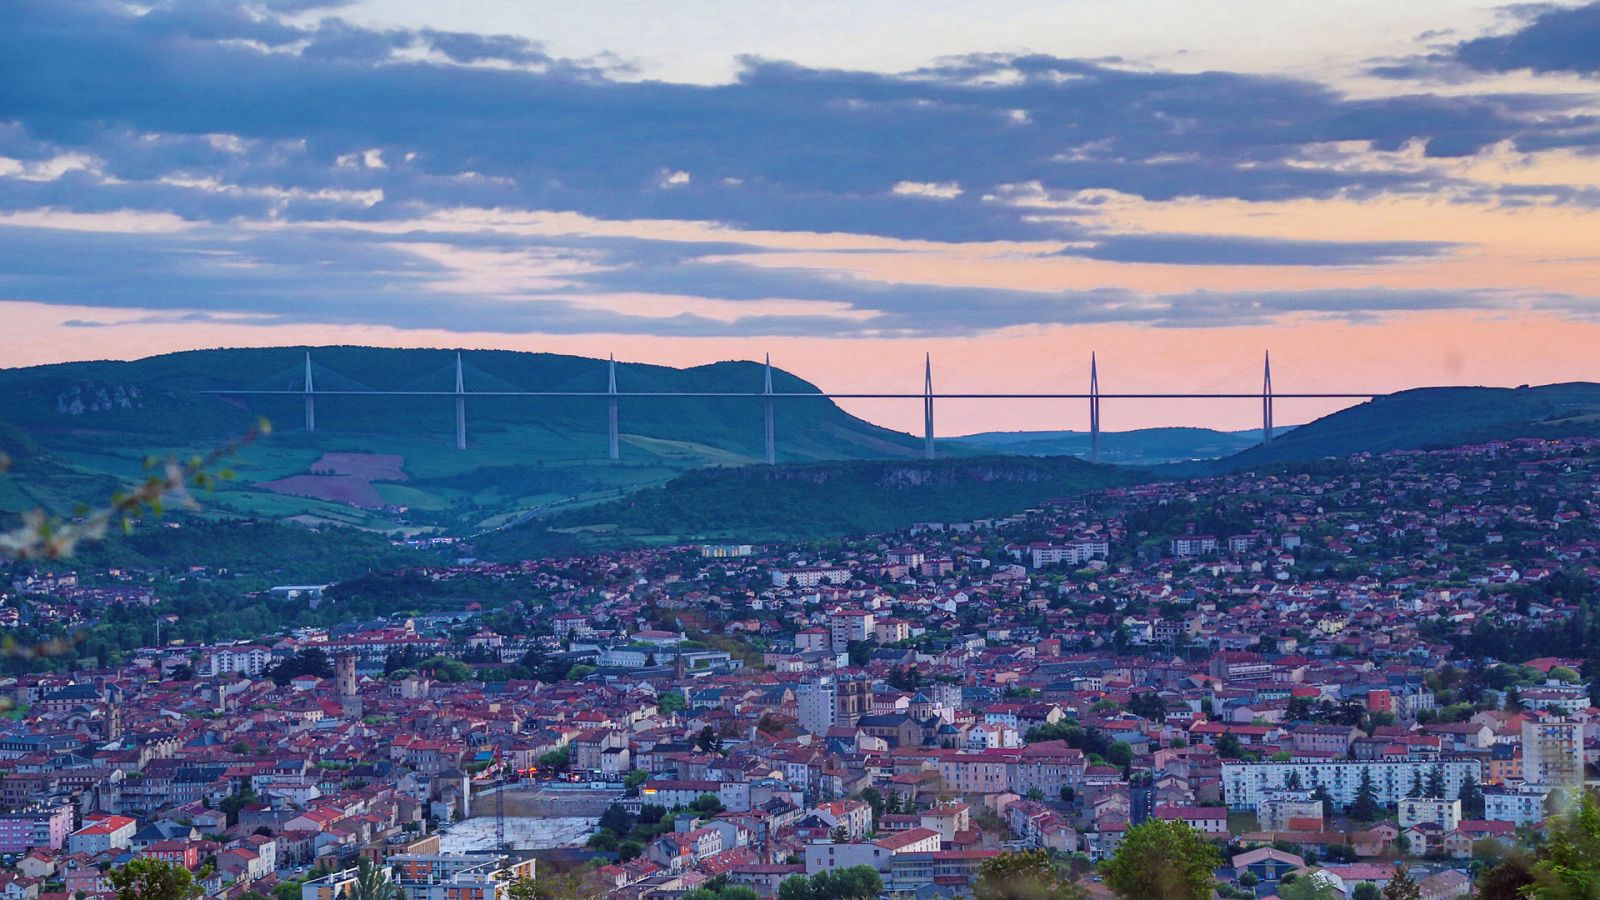
<path fill-rule="evenodd" d="M 3 897 L 158 860 L 251 900 L 374 868 L 408 900 L 928 898 L 1016 858 L 1157 897 L 1125 873 L 1162 823 L 1214 849 L 1203 895 L 1435 900 L 1525 858 L 1600 756 L 1594 439 L 810 546 L 424 543 L 453 556 L 285 581 L 282 628 L 211 641 L 165 612 L 200 567 L 10 565 L 8 649 L 51 645 L 0 684 Z M 386 583 L 432 602 L 346 612 Z M 69 661 L 136 615 L 154 642 Z"/>

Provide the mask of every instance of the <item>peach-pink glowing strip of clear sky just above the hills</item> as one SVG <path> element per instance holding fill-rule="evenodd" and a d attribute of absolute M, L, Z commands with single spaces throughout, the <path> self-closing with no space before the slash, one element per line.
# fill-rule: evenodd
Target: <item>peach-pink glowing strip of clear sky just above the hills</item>
<path fill-rule="evenodd" d="M 1026 327 L 965 338 L 666 338 L 648 335 L 493 335 L 400 330 L 374 325 L 274 325 L 152 322 L 144 311 L 109 312 L 0 303 L 8 341 L 0 365 L 22 367 L 86 359 L 138 359 L 221 346 L 371 344 L 562 352 L 661 365 L 760 359 L 834 391 L 920 391 L 922 357 L 933 354 L 939 391 L 1083 391 L 1090 351 L 1099 354 L 1101 389 L 1259 391 L 1261 354 L 1272 351 L 1277 391 L 1398 391 L 1427 384 L 1542 384 L 1600 381 L 1594 348 L 1600 322 L 1528 312 L 1418 312 L 1381 323 L 1299 317 L 1259 327 L 1150 328 L 1141 325 Z M 96 319 L 107 327 L 70 327 Z M 758 389 L 757 384 L 750 386 Z M 920 432 L 915 400 L 848 400 L 851 413 Z M 1278 400 L 1278 423 L 1302 423 L 1342 402 Z M 1259 426 L 1253 400 L 1104 402 L 1104 428 L 1163 424 L 1246 429 Z M 1075 400 L 941 400 L 941 436 L 973 431 L 1085 429 L 1086 404 Z M 779 413 L 779 429 L 782 415 Z"/>

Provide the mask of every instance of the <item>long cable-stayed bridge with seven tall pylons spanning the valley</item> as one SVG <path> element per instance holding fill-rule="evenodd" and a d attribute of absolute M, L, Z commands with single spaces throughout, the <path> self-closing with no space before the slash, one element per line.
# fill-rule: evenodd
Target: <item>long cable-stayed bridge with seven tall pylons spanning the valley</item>
<path fill-rule="evenodd" d="M 325 367 L 314 367 L 310 352 L 306 352 L 306 367 L 298 386 L 285 388 L 226 388 L 200 391 L 202 394 L 226 396 L 298 396 L 306 405 L 306 431 L 317 431 L 317 397 L 454 397 L 456 400 L 456 448 L 467 448 L 467 399 L 469 397 L 594 397 L 606 402 L 606 436 L 611 460 L 621 458 L 619 405 L 622 400 L 662 400 L 662 399 L 758 399 L 762 400 L 763 423 L 762 439 L 766 463 L 778 460 L 776 404 L 779 400 L 922 400 L 923 410 L 923 456 L 934 458 L 933 413 L 936 400 L 1086 400 L 1090 407 L 1090 460 L 1101 458 L 1101 402 L 1102 400 L 1259 400 L 1261 402 L 1261 439 L 1272 442 L 1272 402 L 1278 399 L 1294 400 L 1368 400 L 1381 396 L 1374 391 L 1334 391 L 1334 392 L 1277 392 L 1272 389 L 1272 356 L 1267 354 L 1261 370 L 1261 391 L 1250 392 L 1115 392 L 1101 391 L 1099 364 L 1090 354 L 1088 391 L 1083 392 L 1037 392 L 1037 391 L 986 391 L 986 392 L 952 392 L 934 391 L 933 359 L 923 360 L 923 381 L 920 392 L 883 392 L 883 391 L 773 391 L 773 360 L 765 360 L 765 378 L 760 391 L 618 391 L 616 359 L 606 360 L 605 391 L 526 391 L 506 383 L 488 373 L 474 370 L 474 388 L 467 389 L 467 367 L 462 354 L 456 354 L 454 389 L 445 386 L 429 388 L 429 380 L 413 381 L 398 389 L 374 389 L 346 378 Z M 272 381 L 283 383 L 283 375 Z"/>

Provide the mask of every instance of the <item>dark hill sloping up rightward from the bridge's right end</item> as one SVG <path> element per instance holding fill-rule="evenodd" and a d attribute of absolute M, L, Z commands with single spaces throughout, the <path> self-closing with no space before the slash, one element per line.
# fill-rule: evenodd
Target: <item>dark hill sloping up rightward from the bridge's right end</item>
<path fill-rule="evenodd" d="M 1237 471 L 1363 452 L 1568 436 L 1600 436 L 1600 384 L 1418 388 L 1322 416 L 1272 444 L 1173 471 Z"/>

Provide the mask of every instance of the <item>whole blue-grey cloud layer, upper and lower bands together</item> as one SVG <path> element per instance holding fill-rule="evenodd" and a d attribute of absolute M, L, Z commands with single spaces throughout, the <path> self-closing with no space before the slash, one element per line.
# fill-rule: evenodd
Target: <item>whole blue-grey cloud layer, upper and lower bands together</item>
<path fill-rule="evenodd" d="M 733 83 L 680 85 L 522 37 L 362 27 L 339 6 L 0 6 L 0 298 L 262 325 L 888 336 L 1586 299 L 1378 277 L 1282 291 L 957 285 L 818 263 L 773 235 L 835 256 L 994 245 L 1123 266 L 1440 263 L 1472 248 L 1130 231 L 1099 199 L 1587 205 L 1582 184 L 1493 186 L 1453 163 L 1594 154 L 1592 96 L 1354 98 L 1286 77 L 1014 54 L 901 74 L 747 59 Z M 1544 11 L 1453 59 L 1592 75 L 1594 29 L 1600 5 Z M 1382 163 L 1402 152 L 1414 159 Z M 587 224 L 443 227 L 464 213 Z M 656 226 L 622 239 L 603 223 Z"/>

